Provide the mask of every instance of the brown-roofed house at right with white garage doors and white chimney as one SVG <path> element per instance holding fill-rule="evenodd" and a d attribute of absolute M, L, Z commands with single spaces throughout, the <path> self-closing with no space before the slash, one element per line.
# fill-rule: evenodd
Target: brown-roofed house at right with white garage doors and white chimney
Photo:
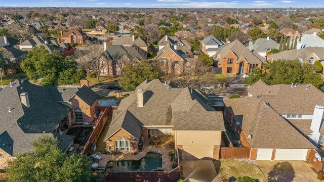
<path fill-rule="evenodd" d="M 234 136 L 251 160 L 307 160 L 324 144 L 324 95 L 311 84 L 268 85 L 259 80 L 245 98 L 224 100 Z"/>

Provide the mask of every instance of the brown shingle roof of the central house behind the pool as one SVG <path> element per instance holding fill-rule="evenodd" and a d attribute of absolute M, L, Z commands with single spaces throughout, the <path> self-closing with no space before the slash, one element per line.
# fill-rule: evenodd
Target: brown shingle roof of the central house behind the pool
<path fill-rule="evenodd" d="M 144 107 L 137 106 L 137 94 L 121 100 L 105 140 L 125 122 L 133 123 L 132 127 L 139 122 L 140 126 L 173 126 L 177 130 L 225 130 L 222 113 L 208 106 L 206 97 L 194 89 L 177 88 L 158 79 L 145 80 L 135 93 L 140 88 L 144 89 Z M 136 133 L 140 134 L 139 129 Z"/>

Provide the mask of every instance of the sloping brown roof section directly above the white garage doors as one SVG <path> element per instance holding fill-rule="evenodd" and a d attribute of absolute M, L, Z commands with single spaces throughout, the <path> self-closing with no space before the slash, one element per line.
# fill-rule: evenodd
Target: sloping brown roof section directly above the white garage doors
<path fill-rule="evenodd" d="M 298 130 L 282 118 L 271 106 L 264 106 L 263 97 L 224 100 L 225 105 L 240 122 L 252 148 L 315 149 Z"/>

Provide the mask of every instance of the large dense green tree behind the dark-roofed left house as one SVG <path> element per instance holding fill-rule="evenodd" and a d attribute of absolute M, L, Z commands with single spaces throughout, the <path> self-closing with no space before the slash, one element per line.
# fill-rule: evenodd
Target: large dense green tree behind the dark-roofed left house
<path fill-rule="evenodd" d="M 62 58 L 57 52 L 50 54 L 43 46 L 34 47 L 21 63 L 29 79 L 42 86 L 77 83 L 85 77 L 83 70 L 76 70 L 76 62 L 70 57 Z"/>

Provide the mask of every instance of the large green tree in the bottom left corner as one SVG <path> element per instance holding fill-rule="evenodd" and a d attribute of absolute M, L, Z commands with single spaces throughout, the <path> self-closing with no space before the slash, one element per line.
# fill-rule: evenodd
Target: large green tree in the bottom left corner
<path fill-rule="evenodd" d="M 9 162 L 5 181 L 100 181 L 85 155 L 61 152 L 56 139 L 43 135 L 31 145 L 34 151 Z"/>

